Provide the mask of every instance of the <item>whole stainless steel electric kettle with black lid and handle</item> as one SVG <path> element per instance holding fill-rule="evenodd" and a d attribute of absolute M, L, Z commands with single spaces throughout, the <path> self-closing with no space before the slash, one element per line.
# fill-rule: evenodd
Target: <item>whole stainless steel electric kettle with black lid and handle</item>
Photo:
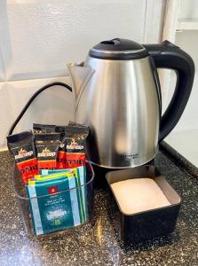
<path fill-rule="evenodd" d="M 177 124 L 194 82 L 194 61 L 178 46 L 139 44 L 115 38 L 89 51 L 83 63 L 67 65 L 75 121 L 90 127 L 86 153 L 104 168 L 131 168 L 154 159 L 158 143 Z M 157 68 L 177 74 L 165 113 Z"/>

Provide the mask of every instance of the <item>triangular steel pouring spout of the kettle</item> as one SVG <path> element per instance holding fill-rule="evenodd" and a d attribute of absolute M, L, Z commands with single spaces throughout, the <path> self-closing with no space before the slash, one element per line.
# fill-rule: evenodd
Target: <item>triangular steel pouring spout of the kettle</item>
<path fill-rule="evenodd" d="M 82 63 L 69 63 L 67 64 L 68 71 L 71 76 L 73 98 L 75 100 L 75 107 L 82 96 L 83 90 L 87 82 L 90 81 L 92 74 L 95 72 L 91 66 L 84 66 Z"/>

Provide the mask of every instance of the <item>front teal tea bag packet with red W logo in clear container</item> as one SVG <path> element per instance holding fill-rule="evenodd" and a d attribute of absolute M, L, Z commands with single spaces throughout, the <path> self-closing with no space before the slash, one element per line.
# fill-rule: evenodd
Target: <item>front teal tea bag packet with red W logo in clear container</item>
<path fill-rule="evenodd" d="M 84 201 L 78 176 L 67 174 L 27 185 L 36 235 L 59 231 L 84 223 Z"/>

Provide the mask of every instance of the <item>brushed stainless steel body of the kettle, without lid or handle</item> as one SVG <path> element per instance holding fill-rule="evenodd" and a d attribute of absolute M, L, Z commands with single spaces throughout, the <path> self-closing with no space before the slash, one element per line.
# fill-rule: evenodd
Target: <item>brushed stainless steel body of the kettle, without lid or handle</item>
<path fill-rule="evenodd" d="M 90 127 L 86 153 L 101 167 L 137 167 L 158 152 L 160 86 L 154 59 L 141 49 L 143 56 L 135 59 L 89 55 L 82 66 L 68 67 L 75 121 Z"/>

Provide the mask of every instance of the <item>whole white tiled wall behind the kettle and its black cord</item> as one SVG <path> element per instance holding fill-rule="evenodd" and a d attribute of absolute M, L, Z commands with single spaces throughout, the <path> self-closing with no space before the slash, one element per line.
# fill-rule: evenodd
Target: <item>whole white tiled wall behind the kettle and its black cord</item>
<path fill-rule="evenodd" d="M 0 1 L 0 148 L 28 98 L 51 81 L 69 82 L 66 63 L 83 60 L 92 45 L 113 37 L 161 40 L 165 0 Z M 62 88 L 36 99 L 15 132 L 32 122 L 73 119 Z"/>

